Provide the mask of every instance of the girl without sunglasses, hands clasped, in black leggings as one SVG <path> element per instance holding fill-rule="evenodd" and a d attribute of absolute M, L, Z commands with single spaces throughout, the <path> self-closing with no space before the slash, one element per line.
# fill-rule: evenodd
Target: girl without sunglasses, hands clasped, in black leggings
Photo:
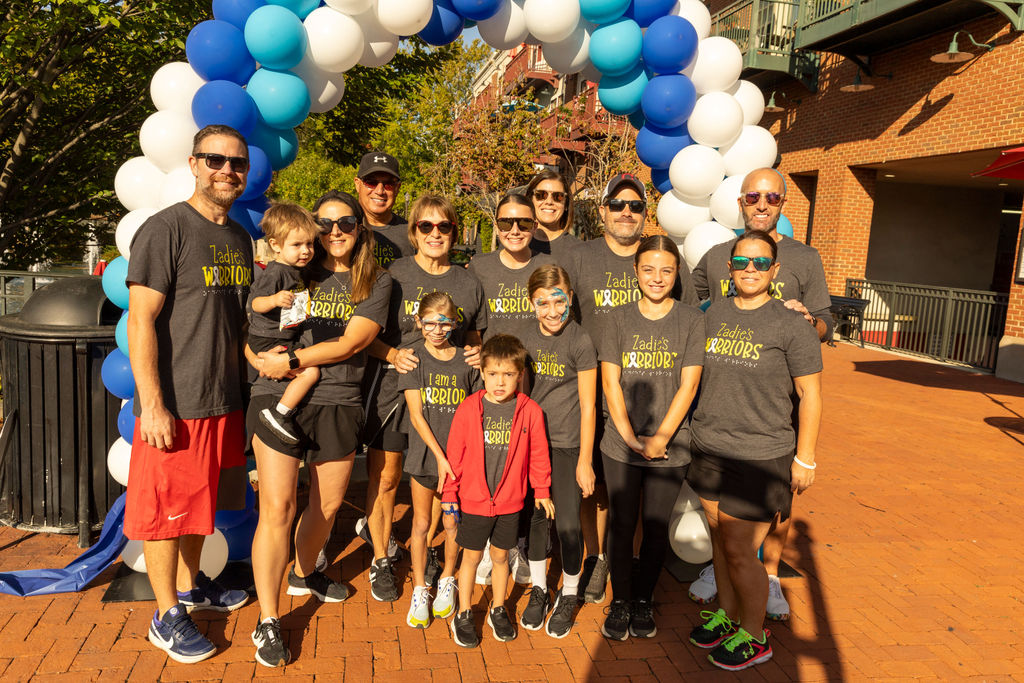
<path fill-rule="evenodd" d="M 601 438 L 608 487 L 608 559 L 612 600 L 606 638 L 653 638 L 652 599 L 669 548 L 669 518 L 690 463 L 686 420 L 700 383 L 705 327 L 700 311 L 676 301 L 676 245 L 645 239 L 633 258 L 641 298 L 612 309 L 598 342 L 601 385 L 611 424 Z M 643 541 L 633 565 L 633 539 Z"/>

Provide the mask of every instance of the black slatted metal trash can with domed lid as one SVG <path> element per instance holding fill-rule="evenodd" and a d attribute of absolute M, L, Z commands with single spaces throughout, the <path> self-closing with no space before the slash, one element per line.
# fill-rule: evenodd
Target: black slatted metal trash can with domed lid
<path fill-rule="evenodd" d="M 124 487 L 106 472 L 121 400 L 100 379 L 121 309 L 99 278 L 62 278 L 0 317 L 0 522 L 89 545 Z"/>

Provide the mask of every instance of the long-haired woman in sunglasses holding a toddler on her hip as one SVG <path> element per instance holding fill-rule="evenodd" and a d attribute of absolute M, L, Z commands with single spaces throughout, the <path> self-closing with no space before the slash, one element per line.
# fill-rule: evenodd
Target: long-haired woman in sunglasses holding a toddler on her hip
<path fill-rule="evenodd" d="M 260 622 L 253 633 L 256 659 L 268 667 L 288 663 L 281 636 L 281 583 L 288 568 L 300 461 L 309 468 L 309 502 L 295 527 L 295 563 L 289 595 L 341 602 L 348 588 L 315 568 L 352 473 L 362 423 L 359 383 L 366 348 L 387 321 L 391 278 L 374 258 L 373 232 L 362 226 L 358 203 L 332 190 L 313 207 L 321 227 L 316 260 L 309 269 L 309 306 L 302 348 L 249 355 L 260 372 L 252 389 L 246 427 L 253 436 L 259 473 L 259 524 L 253 539 L 253 577 Z M 318 367 L 321 380 L 300 404 L 294 422 L 298 443 L 287 443 L 259 421 L 273 407 L 293 371 Z"/>

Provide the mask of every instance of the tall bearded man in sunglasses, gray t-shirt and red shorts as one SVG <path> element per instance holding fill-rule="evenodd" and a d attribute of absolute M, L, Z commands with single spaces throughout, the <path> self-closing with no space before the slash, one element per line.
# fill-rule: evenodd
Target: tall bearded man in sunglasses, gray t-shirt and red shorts
<path fill-rule="evenodd" d="M 155 214 L 131 243 L 136 420 L 124 524 L 125 536 L 144 543 L 157 598 L 150 641 L 185 664 L 216 652 L 188 610 L 230 611 L 248 600 L 203 574 L 199 559 L 214 530 L 221 471 L 245 471 L 243 349 L 253 280 L 252 240 L 227 216 L 246 187 L 245 138 L 207 126 L 188 165 L 193 196 Z"/>

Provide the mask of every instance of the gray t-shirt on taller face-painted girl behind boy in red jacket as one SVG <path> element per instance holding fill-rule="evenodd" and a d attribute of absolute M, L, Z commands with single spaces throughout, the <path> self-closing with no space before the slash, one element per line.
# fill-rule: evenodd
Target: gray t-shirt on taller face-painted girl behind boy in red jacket
<path fill-rule="evenodd" d="M 537 323 L 519 338 L 526 347 L 529 397 L 544 410 L 548 441 L 555 449 L 580 447 L 580 386 L 577 375 L 597 368 L 590 335 L 569 321 L 557 335 Z"/>

